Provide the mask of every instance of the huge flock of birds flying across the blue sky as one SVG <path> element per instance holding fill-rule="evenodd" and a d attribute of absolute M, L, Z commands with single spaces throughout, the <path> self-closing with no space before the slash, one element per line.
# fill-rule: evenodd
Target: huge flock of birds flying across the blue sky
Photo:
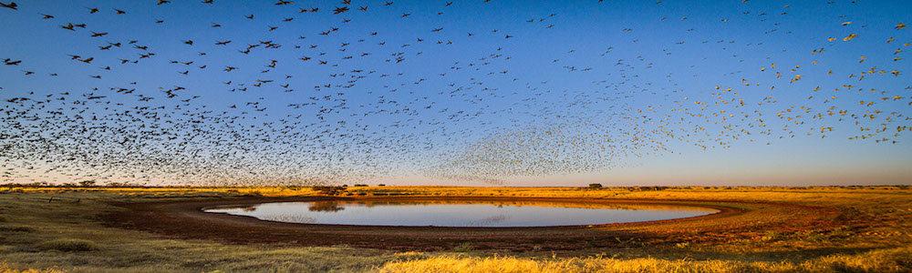
<path fill-rule="evenodd" d="M 221 22 L 189 13 L 237 3 L 136 2 L 64 2 L 66 15 L 0 3 L 0 18 L 25 13 L 16 25 L 64 44 L 0 52 L 0 181 L 498 183 L 780 138 L 894 145 L 912 131 L 912 35 L 827 13 L 858 1 L 802 3 L 823 14 L 812 25 L 845 29 L 834 33 L 800 29 L 791 5 L 745 0 L 700 20 L 653 13 L 674 4 L 658 1 L 606 24 L 609 45 L 581 26 L 598 15 L 520 18 L 522 2 L 478 18 L 503 4 L 279 0 Z M 714 35 L 738 22 L 750 35 Z"/>

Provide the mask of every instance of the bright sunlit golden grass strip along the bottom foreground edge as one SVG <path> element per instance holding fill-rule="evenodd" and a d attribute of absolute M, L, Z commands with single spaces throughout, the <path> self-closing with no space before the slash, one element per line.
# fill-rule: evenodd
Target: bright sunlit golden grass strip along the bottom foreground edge
<path fill-rule="evenodd" d="M 378 268 L 384 273 L 596 273 L 596 272 L 908 272 L 912 269 L 912 248 L 869 251 L 858 255 L 831 255 L 801 263 L 689 260 L 660 258 L 553 258 L 440 256 L 427 259 L 390 262 Z"/>

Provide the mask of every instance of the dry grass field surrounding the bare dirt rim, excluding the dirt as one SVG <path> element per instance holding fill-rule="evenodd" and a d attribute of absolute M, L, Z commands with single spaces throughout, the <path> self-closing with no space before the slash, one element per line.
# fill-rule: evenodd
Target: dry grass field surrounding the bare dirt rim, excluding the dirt
<path fill-rule="evenodd" d="M 111 205 L 118 202 L 317 194 L 309 187 L 3 187 L 0 272 L 912 271 L 912 190 L 906 187 L 348 187 L 341 193 L 679 200 L 745 211 L 706 221 L 592 227 L 674 238 L 573 251 L 504 251 L 471 242 L 430 252 L 229 244 L 109 227 L 102 220 L 124 209 Z"/>

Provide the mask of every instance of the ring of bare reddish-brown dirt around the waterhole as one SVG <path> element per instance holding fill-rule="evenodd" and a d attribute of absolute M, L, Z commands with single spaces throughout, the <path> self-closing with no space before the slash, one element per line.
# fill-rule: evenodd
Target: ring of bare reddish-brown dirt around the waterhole
<path fill-rule="evenodd" d="M 457 199 L 447 198 L 447 199 Z M 300 246 L 347 245 L 390 250 L 450 249 L 470 242 L 476 249 L 498 251 L 631 248 L 682 241 L 751 238 L 764 230 L 793 232 L 831 224 L 834 211 L 782 203 L 701 200 L 630 200 L 466 197 L 471 200 L 648 203 L 712 207 L 720 212 L 702 217 L 607 224 L 588 227 L 359 227 L 291 224 L 253 217 L 202 212 L 202 207 L 281 201 L 341 200 L 334 197 L 242 197 L 194 201 L 117 203 L 125 210 L 102 216 L 109 227 L 146 230 L 171 238 L 212 239 L 237 244 L 277 243 Z M 367 198 L 357 198 L 367 199 Z M 384 197 L 373 199 L 433 199 Z M 441 199 L 441 198 L 437 198 Z"/>

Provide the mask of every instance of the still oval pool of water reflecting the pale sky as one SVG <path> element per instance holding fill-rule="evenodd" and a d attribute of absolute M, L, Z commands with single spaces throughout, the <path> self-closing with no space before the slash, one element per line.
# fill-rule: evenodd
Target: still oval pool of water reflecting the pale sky
<path fill-rule="evenodd" d="M 550 201 L 320 201 L 206 207 L 288 223 L 409 227 L 548 227 L 698 217 L 707 207 Z"/>

